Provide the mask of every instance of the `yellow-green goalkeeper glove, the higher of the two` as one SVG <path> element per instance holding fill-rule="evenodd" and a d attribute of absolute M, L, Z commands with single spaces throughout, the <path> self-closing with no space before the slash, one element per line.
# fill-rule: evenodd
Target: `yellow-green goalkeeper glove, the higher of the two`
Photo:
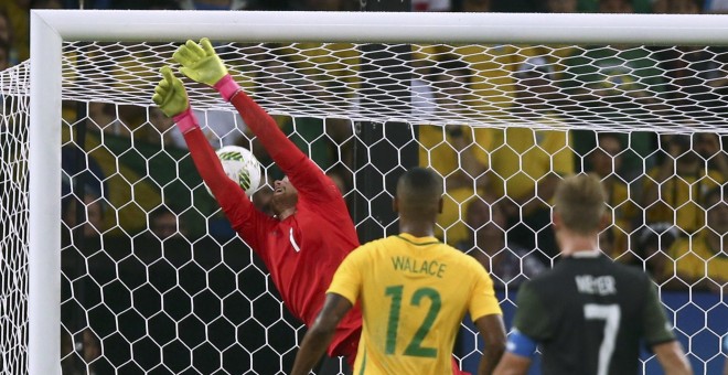
<path fill-rule="evenodd" d="M 180 73 L 208 86 L 215 86 L 227 75 L 225 64 L 220 60 L 207 38 L 203 38 L 200 44 L 188 41 L 174 52 L 172 58 L 182 65 Z"/>

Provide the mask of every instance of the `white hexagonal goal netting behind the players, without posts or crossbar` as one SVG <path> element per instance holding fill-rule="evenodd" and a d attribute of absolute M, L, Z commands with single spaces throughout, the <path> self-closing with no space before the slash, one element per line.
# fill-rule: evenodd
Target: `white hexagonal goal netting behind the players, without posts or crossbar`
<path fill-rule="evenodd" d="M 341 179 L 361 232 L 396 229 L 372 213 L 392 196 L 393 170 L 377 161 L 381 149 L 397 156 L 395 171 L 409 167 L 399 156 L 414 150 L 419 164 L 440 172 L 447 194 L 438 235 L 491 270 L 506 313 L 518 282 L 557 254 L 548 216 L 554 182 L 598 173 L 612 212 L 603 250 L 653 274 L 696 372 L 722 364 L 728 309 L 716 291 L 725 289 L 728 265 L 709 234 L 728 231 L 727 197 L 706 197 L 728 174 L 725 50 L 216 42 L 235 78 Z M 68 373 L 274 374 L 290 368 L 302 334 L 205 192 L 179 131 L 150 107 L 159 68 L 176 46 L 64 43 Z M 371 50 L 377 52 L 363 52 Z M 3 222 L 3 240 L 15 244 L 3 257 L 21 259 L 3 258 L 2 293 L 11 302 L 23 299 L 17 280 L 26 210 L 17 205 L 26 190 L 25 173 L 11 180 L 6 171 L 22 171 L 23 159 L 14 158 L 26 154 L 26 83 L 6 77 L 25 68 L 2 75 L 6 95 L 23 88 L 11 97 L 6 114 L 13 119 L 2 132 L 3 210 L 13 210 L 2 219 L 18 217 L 15 229 Z M 213 146 L 249 147 L 268 178 L 280 178 L 234 109 L 214 90 L 186 84 Z M 400 122 L 410 126 L 404 139 L 363 133 L 382 124 L 406 127 Z M 371 175 L 376 181 L 363 181 Z M 378 191 L 363 191 L 370 183 Z M 267 192 L 254 199 L 263 210 Z M 3 312 L 14 317 L 2 324 L 3 338 L 22 335 L 22 309 Z M 479 354 L 474 330 L 463 332 L 458 355 L 468 367 Z M 19 341 L 3 350 L 4 363 L 22 361 Z M 654 365 L 646 361 L 645 372 Z"/>

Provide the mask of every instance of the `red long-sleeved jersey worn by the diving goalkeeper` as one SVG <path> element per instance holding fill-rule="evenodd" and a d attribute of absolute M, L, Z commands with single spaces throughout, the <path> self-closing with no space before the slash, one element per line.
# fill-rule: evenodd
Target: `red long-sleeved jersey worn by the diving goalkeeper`
<path fill-rule="evenodd" d="M 293 215 L 279 221 L 256 210 L 245 192 L 225 175 L 200 128 L 188 131 L 184 139 L 197 171 L 233 228 L 263 259 L 290 312 L 311 326 L 336 268 L 358 246 L 354 224 L 331 179 L 263 108 L 243 92 L 231 103 L 298 190 Z M 339 324 L 329 354 L 346 355 L 353 361 L 361 326 L 361 312 L 355 307 Z"/>

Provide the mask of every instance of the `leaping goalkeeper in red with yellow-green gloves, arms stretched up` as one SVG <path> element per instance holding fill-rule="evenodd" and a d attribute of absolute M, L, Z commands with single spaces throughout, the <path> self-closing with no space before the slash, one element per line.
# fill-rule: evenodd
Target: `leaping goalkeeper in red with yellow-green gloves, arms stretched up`
<path fill-rule="evenodd" d="M 245 192 L 228 179 L 192 114 L 186 92 L 169 66 L 152 100 L 173 117 L 184 135 L 192 160 L 233 228 L 263 259 L 290 312 L 310 326 L 323 306 L 334 271 L 358 246 L 354 224 L 334 183 L 278 128 L 227 73 L 210 40 L 188 41 L 174 53 L 180 72 L 210 85 L 233 104 L 286 178 L 274 183 L 275 217 L 256 210 Z M 336 328 L 326 353 L 356 355 L 362 319 L 353 309 Z M 338 361 L 331 361 L 338 362 Z M 338 373 L 338 368 L 336 368 Z"/>

